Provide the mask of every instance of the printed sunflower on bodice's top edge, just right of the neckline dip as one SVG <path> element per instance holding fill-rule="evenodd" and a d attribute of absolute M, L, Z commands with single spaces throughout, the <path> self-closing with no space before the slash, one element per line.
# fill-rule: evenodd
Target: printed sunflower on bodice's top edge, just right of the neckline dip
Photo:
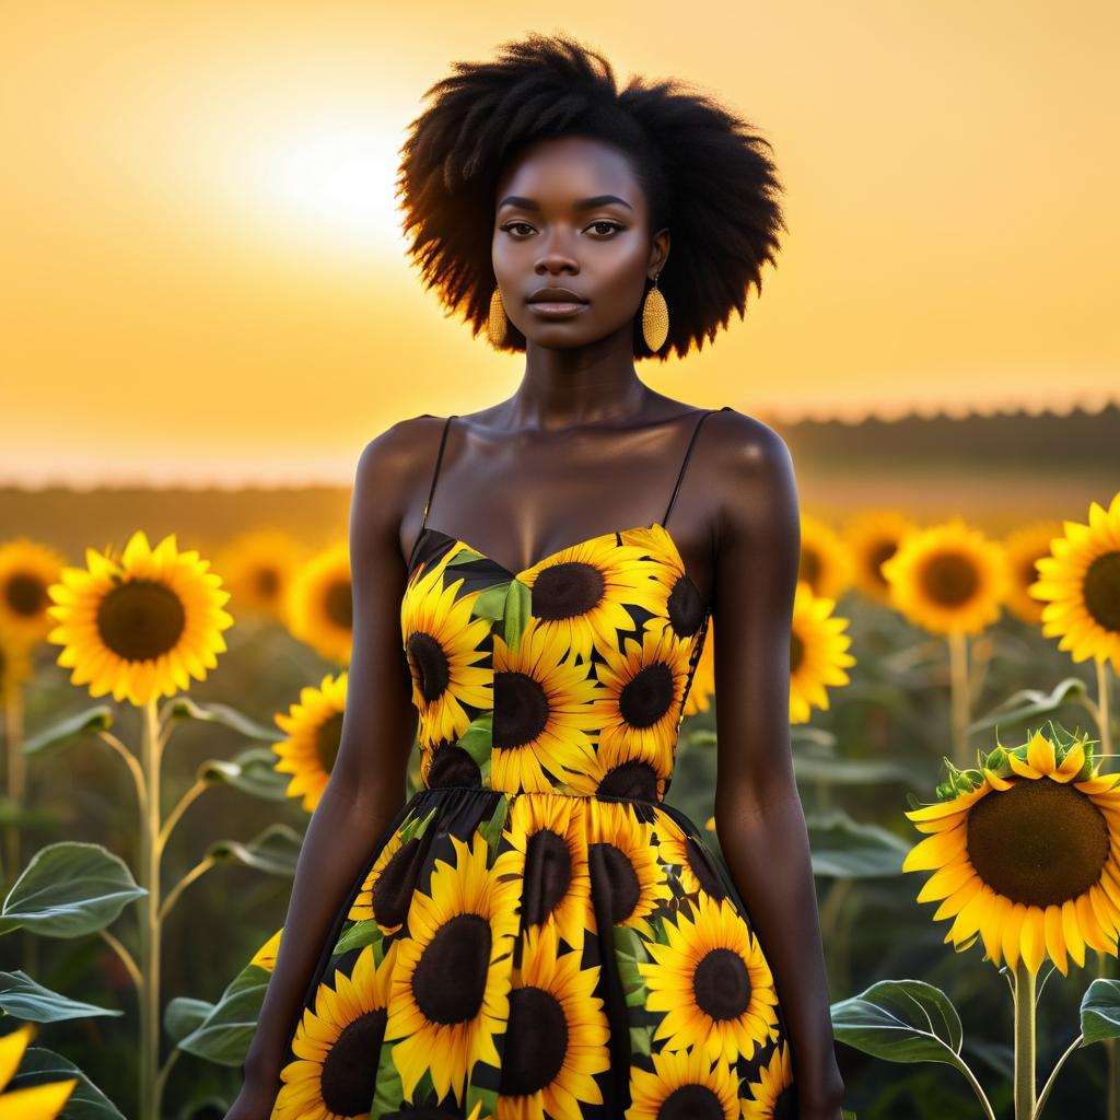
<path fill-rule="evenodd" d="M 618 543 L 632 533 L 604 533 L 545 557 L 517 572 L 532 592 L 532 614 L 561 651 L 590 660 L 592 646 L 612 650 L 618 631 L 634 628 L 626 604 L 653 615 L 664 613 L 664 586 L 651 579 L 645 538 Z"/>

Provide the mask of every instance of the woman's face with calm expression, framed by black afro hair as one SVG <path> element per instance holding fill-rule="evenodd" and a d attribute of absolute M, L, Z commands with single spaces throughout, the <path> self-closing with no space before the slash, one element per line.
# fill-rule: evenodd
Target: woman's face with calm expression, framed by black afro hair
<path fill-rule="evenodd" d="M 505 314 L 529 342 L 568 349 L 629 335 L 669 233 L 651 240 L 645 192 L 622 151 L 586 137 L 539 141 L 506 168 L 495 204 L 494 274 Z M 580 301 L 532 301 L 554 287 Z"/>

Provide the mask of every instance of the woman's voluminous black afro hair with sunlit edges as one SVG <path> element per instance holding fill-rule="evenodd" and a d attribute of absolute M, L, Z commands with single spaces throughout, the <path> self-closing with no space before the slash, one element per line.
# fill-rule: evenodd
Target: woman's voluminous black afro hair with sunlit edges
<path fill-rule="evenodd" d="M 530 34 L 503 44 L 493 62 L 452 68 L 410 124 L 396 194 L 424 287 L 436 288 L 447 314 L 465 317 L 473 337 L 496 283 L 500 177 L 529 143 L 570 134 L 624 151 L 648 199 L 651 236 L 670 228 L 659 276 L 669 336 L 654 355 L 635 316 L 634 356 L 664 360 L 675 349 L 683 357 L 693 342 L 701 349 L 704 337 L 715 339 L 732 308 L 745 317 L 750 284 L 762 293 L 763 261 L 775 263 L 777 232 L 786 228 L 771 144 L 747 122 L 676 80 L 632 76 L 619 93 L 609 63 L 564 35 Z M 525 348 L 512 320 L 502 348 Z"/>

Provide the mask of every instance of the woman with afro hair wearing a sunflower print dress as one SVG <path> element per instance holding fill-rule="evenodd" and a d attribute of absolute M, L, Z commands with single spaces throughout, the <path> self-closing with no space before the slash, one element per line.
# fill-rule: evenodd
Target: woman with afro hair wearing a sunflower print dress
<path fill-rule="evenodd" d="M 788 451 L 634 368 L 760 288 L 765 141 L 564 36 L 455 69 L 403 149 L 405 232 L 524 375 L 361 456 L 342 745 L 227 1120 L 839 1120 Z M 726 867 L 663 800 L 709 620 Z"/>

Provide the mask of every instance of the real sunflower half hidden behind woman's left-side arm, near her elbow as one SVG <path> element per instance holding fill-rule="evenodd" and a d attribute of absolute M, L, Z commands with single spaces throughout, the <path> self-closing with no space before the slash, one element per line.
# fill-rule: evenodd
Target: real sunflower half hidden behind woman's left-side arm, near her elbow
<path fill-rule="evenodd" d="M 311 813 L 326 788 L 330 772 L 338 757 L 343 734 L 343 713 L 346 711 L 347 672 L 337 676 L 327 673 L 317 688 L 307 685 L 299 690 L 299 702 L 288 712 L 272 718 L 288 736 L 272 744 L 279 762 L 272 767 L 278 774 L 291 774 L 287 794 L 304 795 L 304 809 Z"/>

